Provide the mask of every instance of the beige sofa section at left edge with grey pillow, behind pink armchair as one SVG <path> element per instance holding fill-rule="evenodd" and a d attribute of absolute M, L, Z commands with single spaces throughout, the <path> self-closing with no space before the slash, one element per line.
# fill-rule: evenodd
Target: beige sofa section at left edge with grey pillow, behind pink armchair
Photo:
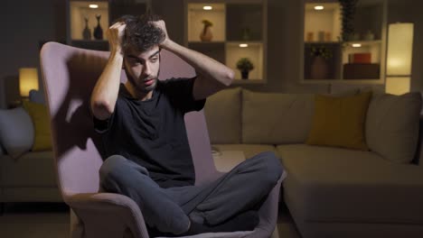
<path fill-rule="evenodd" d="M 35 90 L 29 100 L 44 103 Z M 0 208 L 12 202 L 62 202 L 53 153 L 31 151 L 34 133 L 33 120 L 22 106 L 0 109 Z"/>

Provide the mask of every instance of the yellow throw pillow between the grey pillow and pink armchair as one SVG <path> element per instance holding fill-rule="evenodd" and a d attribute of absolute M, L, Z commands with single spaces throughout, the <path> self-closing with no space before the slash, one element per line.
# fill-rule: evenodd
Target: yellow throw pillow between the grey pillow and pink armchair
<path fill-rule="evenodd" d="M 24 109 L 33 120 L 34 139 L 32 151 L 52 150 L 50 119 L 47 107 L 30 101 L 24 101 Z"/>

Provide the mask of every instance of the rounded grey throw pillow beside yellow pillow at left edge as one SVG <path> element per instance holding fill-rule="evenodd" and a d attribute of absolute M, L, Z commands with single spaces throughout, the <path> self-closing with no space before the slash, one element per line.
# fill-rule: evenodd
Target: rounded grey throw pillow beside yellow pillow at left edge
<path fill-rule="evenodd" d="M 31 116 L 23 107 L 0 109 L 0 142 L 11 157 L 31 150 L 33 133 Z"/>

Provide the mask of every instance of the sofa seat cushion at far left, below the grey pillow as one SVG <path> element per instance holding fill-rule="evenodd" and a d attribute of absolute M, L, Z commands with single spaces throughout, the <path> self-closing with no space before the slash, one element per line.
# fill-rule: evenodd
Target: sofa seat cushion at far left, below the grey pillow
<path fill-rule="evenodd" d="M 52 151 L 27 152 L 17 160 L 8 155 L 2 155 L 0 169 L 0 181 L 5 188 L 57 188 Z"/>

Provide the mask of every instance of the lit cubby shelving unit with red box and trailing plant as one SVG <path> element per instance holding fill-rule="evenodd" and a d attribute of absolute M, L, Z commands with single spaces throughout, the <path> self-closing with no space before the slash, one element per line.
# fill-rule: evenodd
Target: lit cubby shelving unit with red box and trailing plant
<path fill-rule="evenodd" d="M 323 10 L 316 10 L 321 6 Z M 382 84 L 386 64 L 386 0 L 361 0 L 353 20 L 354 33 L 341 41 L 342 11 L 336 0 L 305 0 L 302 83 Z M 312 49 L 332 55 L 319 58 Z M 360 58 L 361 57 L 361 58 Z M 363 61 L 360 61 L 360 60 Z M 318 62 L 323 62 L 317 64 Z"/>

